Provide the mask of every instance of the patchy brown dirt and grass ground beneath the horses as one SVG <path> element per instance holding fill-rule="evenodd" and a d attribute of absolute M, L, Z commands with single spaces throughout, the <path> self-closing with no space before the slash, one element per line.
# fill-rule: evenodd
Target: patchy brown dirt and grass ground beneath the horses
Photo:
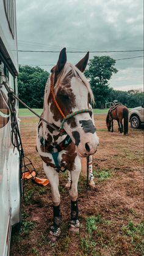
<path fill-rule="evenodd" d="M 129 135 L 107 132 L 106 115 L 95 115 L 96 133 L 100 138 L 93 156 L 96 187 L 88 189 L 86 178 L 79 179 L 80 232 L 68 232 L 70 198 L 67 173 L 60 173 L 62 235 L 56 243 L 48 239 L 52 223 L 50 186 L 38 186 L 31 180 L 24 183 L 23 224 L 12 233 L 11 256 L 31 255 L 143 255 L 143 130 L 129 127 Z M 37 118 L 21 117 L 21 138 L 24 152 L 46 178 L 35 151 Z"/>

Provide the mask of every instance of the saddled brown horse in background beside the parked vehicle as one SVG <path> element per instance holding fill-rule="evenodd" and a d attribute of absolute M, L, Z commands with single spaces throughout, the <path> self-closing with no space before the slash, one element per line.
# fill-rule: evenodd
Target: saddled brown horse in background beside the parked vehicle
<path fill-rule="evenodd" d="M 128 134 L 128 116 L 129 110 L 123 104 L 110 108 L 106 118 L 108 131 L 110 132 L 110 129 L 112 128 L 111 132 L 113 132 L 113 119 L 115 119 L 118 122 L 118 130 L 120 133 L 123 133 L 124 135 Z"/>

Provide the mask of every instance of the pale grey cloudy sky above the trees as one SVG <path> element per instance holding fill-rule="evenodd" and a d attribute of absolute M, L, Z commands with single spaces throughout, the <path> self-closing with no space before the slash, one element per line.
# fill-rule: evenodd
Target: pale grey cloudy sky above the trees
<path fill-rule="evenodd" d="M 143 89 L 143 51 L 132 51 L 143 49 L 143 0 L 21 0 L 16 1 L 16 16 L 18 50 L 128 50 L 90 53 L 90 59 L 109 55 L 117 60 L 118 73 L 109 81 L 114 89 Z M 84 55 L 68 53 L 68 62 L 75 64 Z M 48 71 L 58 56 L 18 53 L 20 64 Z"/>

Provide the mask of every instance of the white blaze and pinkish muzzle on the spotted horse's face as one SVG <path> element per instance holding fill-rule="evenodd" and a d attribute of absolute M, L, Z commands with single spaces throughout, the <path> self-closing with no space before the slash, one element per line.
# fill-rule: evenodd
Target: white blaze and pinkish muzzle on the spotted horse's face
<path fill-rule="evenodd" d="M 88 108 L 88 89 L 82 82 L 80 78 L 73 77 L 71 79 L 71 89 L 73 94 L 76 96 L 76 107 L 72 111 L 82 110 Z M 84 127 L 82 127 L 81 121 L 92 121 L 89 113 L 81 113 L 74 116 L 76 121 L 76 127 L 73 129 L 70 125 L 65 122 L 64 129 L 68 132 L 71 139 L 76 145 L 77 154 L 81 157 L 92 155 L 96 152 L 99 145 L 99 138 L 96 132 L 93 132 L 93 125 L 90 124 L 88 132 L 85 132 Z M 86 122 L 88 123 L 88 122 Z"/>

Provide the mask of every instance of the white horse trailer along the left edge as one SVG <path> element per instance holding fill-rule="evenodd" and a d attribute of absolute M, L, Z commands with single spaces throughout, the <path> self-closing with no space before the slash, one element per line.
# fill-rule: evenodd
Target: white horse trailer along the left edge
<path fill-rule="evenodd" d="M 12 226 L 21 222 L 20 156 L 12 145 L 10 110 L 2 81 L 18 94 L 15 0 L 0 1 L 0 256 L 9 255 Z M 16 110 L 18 104 L 16 103 Z M 17 111 L 16 111 L 17 112 Z"/>

